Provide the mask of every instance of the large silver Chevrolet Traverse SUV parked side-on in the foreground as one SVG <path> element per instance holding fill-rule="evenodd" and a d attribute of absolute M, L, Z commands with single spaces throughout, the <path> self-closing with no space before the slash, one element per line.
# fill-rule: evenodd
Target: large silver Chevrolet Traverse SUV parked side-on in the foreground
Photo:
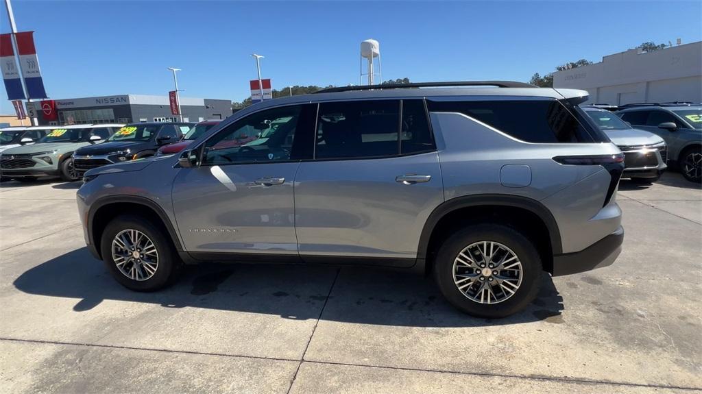
<path fill-rule="evenodd" d="M 137 291 L 199 261 L 388 266 L 431 274 L 461 311 L 510 315 L 543 271 L 621 252 L 623 154 L 578 108 L 587 94 L 415 83 L 255 104 L 176 156 L 86 172 L 85 240 Z"/>

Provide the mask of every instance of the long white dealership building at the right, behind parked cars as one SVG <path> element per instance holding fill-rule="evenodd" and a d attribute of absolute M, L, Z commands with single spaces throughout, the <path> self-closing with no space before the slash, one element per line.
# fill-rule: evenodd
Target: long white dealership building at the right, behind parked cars
<path fill-rule="evenodd" d="M 554 88 L 588 90 L 588 104 L 702 102 L 702 41 L 653 52 L 640 48 L 553 74 Z"/>

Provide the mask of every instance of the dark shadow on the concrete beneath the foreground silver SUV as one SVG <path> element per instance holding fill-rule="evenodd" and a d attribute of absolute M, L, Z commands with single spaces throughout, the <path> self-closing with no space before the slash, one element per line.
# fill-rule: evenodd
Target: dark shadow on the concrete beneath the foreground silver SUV
<path fill-rule="evenodd" d="M 25 271 L 13 284 L 29 294 L 77 299 L 72 308 L 76 312 L 91 310 L 104 300 L 117 300 L 306 320 L 319 318 L 324 307 L 322 320 L 411 327 L 484 327 L 539 320 L 559 323 L 563 310 L 562 297 L 548 274 L 543 275 L 538 297 L 524 311 L 503 319 L 481 319 L 449 305 L 430 278 L 383 269 L 302 264 L 187 266 L 175 285 L 140 293 L 121 287 L 86 247 Z"/>

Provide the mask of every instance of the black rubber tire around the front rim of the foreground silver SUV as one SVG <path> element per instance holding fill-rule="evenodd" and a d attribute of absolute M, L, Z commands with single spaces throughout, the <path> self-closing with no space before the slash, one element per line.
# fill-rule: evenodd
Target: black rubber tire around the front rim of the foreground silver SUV
<path fill-rule="evenodd" d="M 112 258 L 112 241 L 117 234 L 126 229 L 144 233 L 154 243 L 158 252 L 156 272 L 146 280 L 139 281 L 128 278 L 126 274 L 121 273 Z M 102 252 L 102 261 L 105 261 L 105 265 L 114 279 L 124 287 L 138 292 L 152 292 L 170 285 L 178 277 L 182 265 L 166 231 L 142 217 L 133 215 L 116 217 L 107 224 L 105 231 L 102 232 L 100 251 Z"/>

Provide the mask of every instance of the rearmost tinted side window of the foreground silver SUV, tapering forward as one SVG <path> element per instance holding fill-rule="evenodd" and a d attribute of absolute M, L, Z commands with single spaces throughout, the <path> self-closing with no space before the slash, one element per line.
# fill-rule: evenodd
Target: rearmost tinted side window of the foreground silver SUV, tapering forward
<path fill-rule="evenodd" d="M 428 102 L 432 112 L 459 112 L 534 143 L 593 142 L 585 126 L 557 100 Z"/>

